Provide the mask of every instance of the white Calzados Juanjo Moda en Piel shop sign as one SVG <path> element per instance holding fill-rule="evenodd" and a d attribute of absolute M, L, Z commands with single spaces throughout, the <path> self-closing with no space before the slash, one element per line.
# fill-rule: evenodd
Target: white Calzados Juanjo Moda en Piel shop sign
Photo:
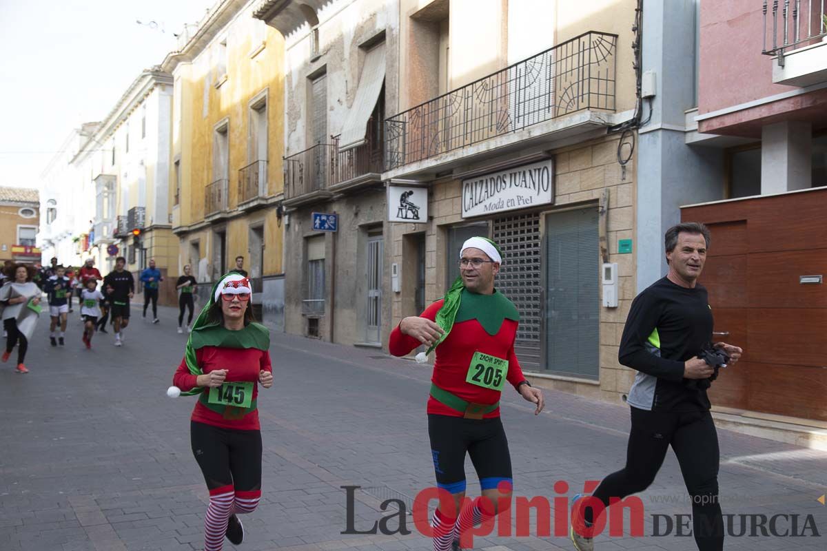
<path fill-rule="evenodd" d="M 553 177 L 554 162 L 547 159 L 462 180 L 462 217 L 550 205 Z"/>

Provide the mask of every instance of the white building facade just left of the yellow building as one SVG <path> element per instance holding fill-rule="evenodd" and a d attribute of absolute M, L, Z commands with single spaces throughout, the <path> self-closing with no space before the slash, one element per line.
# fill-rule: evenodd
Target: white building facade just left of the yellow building
<path fill-rule="evenodd" d="M 82 254 L 104 274 L 118 256 L 133 273 L 155 259 L 166 279 L 161 304 L 177 302 L 167 277 L 178 262 L 169 208 L 171 107 L 170 74 L 157 67 L 141 72 L 72 161 L 93 208 Z"/>

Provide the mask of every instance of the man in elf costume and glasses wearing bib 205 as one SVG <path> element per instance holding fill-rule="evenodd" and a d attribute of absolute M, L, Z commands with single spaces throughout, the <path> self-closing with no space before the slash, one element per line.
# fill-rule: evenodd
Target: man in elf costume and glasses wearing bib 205
<path fill-rule="evenodd" d="M 510 503 L 511 457 L 500 422 L 500 394 L 508 381 L 543 411 L 543 392 L 523 377 L 514 353 L 519 312 L 494 287 L 502 253 L 491 240 L 472 237 L 462 245 L 460 277 L 422 316 L 406 317 L 390 334 L 390 354 L 403 356 L 421 344 L 437 350 L 428 398 L 437 486 L 450 492 L 433 515 L 433 549 L 466 545 L 466 534 Z M 466 492 L 465 458 L 480 477 L 482 496 L 460 509 Z M 503 501 L 500 501 L 502 499 Z M 457 515 L 457 511 L 461 511 Z"/>

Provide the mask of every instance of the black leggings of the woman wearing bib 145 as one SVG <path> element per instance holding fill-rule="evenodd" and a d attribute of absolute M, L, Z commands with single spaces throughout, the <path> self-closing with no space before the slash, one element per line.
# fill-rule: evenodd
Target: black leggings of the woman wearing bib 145
<path fill-rule="evenodd" d="M 193 455 L 210 490 L 261 490 L 261 430 L 223 429 L 190 421 Z"/>

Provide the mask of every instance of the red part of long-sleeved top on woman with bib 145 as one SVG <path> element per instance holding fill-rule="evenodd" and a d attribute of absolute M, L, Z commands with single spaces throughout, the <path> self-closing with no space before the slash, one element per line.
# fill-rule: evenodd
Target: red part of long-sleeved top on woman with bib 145
<path fill-rule="evenodd" d="M 270 364 L 270 352 L 259 349 L 228 349 L 217 346 L 204 346 L 195 351 L 195 358 L 203 373 L 213 369 L 227 369 L 227 382 L 242 381 L 253 383 L 253 399 L 258 397 L 259 371 L 273 372 Z M 182 359 L 172 378 L 172 383 L 187 392 L 196 387 L 197 375 L 189 373 L 186 359 Z M 208 390 L 204 390 L 208 392 Z M 258 420 L 258 409 L 249 412 L 241 419 L 226 419 L 221 414 L 204 406 L 201 401 L 195 402 L 192 420 L 207 425 L 219 426 L 225 429 L 261 430 Z"/>

